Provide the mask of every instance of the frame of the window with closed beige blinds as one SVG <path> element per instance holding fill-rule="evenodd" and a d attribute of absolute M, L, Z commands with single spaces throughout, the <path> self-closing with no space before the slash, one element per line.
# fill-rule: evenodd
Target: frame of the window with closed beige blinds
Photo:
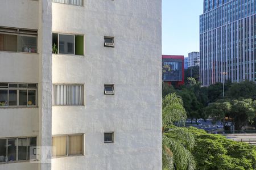
<path fill-rule="evenodd" d="M 69 137 L 70 136 L 81 136 L 82 137 L 82 154 L 69 155 Z M 63 155 L 63 156 L 52 156 L 52 158 L 63 158 L 63 157 L 69 157 L 69 156 L 85 156 L 85 151 L 84 151 L 84 148 L 85 148 L 85 146 L 84 146 L 85 134 L 84 133 L 52 135 L 52 138 L 53 137 L 66 137 L 66 155 Z"/>

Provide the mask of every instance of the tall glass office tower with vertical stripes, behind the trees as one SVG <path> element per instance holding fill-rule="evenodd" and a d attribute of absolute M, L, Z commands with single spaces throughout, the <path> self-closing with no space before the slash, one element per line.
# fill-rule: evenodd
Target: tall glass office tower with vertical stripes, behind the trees
<path fill-rule="evenodd" d="M 200 81 L 207 86 L 256 80 L 256 2 L 204 0 L 200 15 Z M 223 74 L 225 73 L 225 74 Z"/>

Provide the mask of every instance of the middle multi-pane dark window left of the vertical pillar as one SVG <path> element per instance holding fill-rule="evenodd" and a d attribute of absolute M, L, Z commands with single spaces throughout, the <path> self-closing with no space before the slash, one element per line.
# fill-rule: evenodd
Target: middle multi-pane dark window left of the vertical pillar
<path fill-rule="evenodd" d="M 0 83 L 0 107 L 35 107 L 37 84 Z"/>

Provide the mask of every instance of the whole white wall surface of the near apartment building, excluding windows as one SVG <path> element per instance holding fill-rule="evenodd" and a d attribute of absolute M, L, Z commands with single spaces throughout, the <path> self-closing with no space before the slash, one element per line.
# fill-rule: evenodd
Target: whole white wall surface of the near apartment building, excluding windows
<path fill-rule="evenodd" d="M 35 136 L 37 146 L 51 146 L 52 135 L 84 134 L 83 155 L 0 163 L 0 170 L 162 169 L 161 6 L 0 1 L 0 27 L 38 31 L 38 53 L 0 51 L 0 83 L 38 84 L 36 107 L 0 107 L 0 139 Z M 52 54 L 52 33 L 84 35 L 84 55 Z M 104 36 L 114 37 L 114 48 Z M 84 84 L 84 105 L 53 106 L 52 84 Z M 104 84 L 114 84 L 115 94 L 104 95 Z M 109 131 L 114 142 L 104 143 Z"/>

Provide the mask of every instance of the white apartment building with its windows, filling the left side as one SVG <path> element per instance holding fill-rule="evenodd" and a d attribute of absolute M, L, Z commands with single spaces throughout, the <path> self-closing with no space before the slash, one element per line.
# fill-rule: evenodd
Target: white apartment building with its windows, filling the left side
<path fill-rule="evenodd" d="M 0 170 L 162 169 L 161 5 L 0 1 Z"/>

